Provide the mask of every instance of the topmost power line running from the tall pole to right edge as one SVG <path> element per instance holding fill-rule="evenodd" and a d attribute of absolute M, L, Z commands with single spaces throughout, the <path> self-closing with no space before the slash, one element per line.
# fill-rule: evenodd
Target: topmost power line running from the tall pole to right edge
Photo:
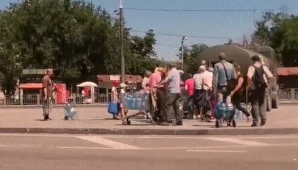
<path fill-rule="evenodd" d="M 149 9 L 149 8 L 124 8 L 137 11 L 163 11 L 163 12 L 251 12 L 251 11 L 276 11 L 275 9 Z M 298 7 L 283 8 L 282 10 L 298 9 Z"/>

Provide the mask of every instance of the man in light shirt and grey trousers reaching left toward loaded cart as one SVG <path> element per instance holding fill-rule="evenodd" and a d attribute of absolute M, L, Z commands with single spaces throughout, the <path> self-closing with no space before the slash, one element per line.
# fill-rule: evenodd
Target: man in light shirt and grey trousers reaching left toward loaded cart
<path fill-rule="evenodd" d="M 177 101 L 181 97 L 180 89 L 180 73 L 177 70 L 175 63 L 171 63 L 168 66 L 168 76 L 162 80 L 157 86 L 168 84 L 167 97 L 166 97 L 166 123 L 172 123 L 171 115 L 174 109 L 176 117 L 176 125 L 181 126 L 182 124 L 182 115 L 179 112 L 177 107 Z"/>

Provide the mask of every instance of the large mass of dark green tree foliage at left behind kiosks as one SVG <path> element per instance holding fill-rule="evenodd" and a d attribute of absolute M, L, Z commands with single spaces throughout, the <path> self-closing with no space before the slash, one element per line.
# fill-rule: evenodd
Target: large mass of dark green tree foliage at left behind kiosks
<path fill-rule="evenodd" d="M 127 74 L 159 61 L 153 30 L 144 38 L 124 28 Z M 1 86 L 13 92 L 23 68 L 54 68 L 60 77 L 119 74 L 119 19 L 84 0 L 22 0 L 0 12 Z"/>

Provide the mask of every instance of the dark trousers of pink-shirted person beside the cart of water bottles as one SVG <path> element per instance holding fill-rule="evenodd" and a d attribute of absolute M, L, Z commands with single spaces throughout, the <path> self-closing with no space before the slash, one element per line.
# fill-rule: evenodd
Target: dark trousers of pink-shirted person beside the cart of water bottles
<path fill-rule="evenodd" d="M 165 112 L 165 91 L 157 90 L 157 111 L 153 115 L 153 119 L 159 118 L 159 121 L 166 120 L 166 112 Z"/>

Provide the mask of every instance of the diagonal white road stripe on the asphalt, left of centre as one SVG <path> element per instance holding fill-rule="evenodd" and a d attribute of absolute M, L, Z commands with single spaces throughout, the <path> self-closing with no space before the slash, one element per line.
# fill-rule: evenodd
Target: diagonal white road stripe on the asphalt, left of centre
<path fill-rule="evenodd" d="M 139 149 L 139 147 L 136 147 L 136 146 L 115 142 L 98 136 L 76 136 L 76 137 L 79 139 L 87 140 L 90 142 L 98 143 L 98 144 L 105 145 L 111 148 L 116 148 L 116 149 L 125 149 L 125 150 Z"/>

